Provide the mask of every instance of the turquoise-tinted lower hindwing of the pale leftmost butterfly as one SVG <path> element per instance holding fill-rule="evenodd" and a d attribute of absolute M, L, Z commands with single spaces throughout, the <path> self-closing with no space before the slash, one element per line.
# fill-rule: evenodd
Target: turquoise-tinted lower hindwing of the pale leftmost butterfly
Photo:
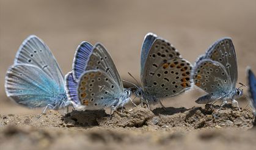
<path fill-rule="evenodd" d="M 64 88 L 41 68 L 29 64 L 10 66 L 5 76 L 5 92 L 16 103 L 31 108 L 56 106 L 66 98 Z"/>

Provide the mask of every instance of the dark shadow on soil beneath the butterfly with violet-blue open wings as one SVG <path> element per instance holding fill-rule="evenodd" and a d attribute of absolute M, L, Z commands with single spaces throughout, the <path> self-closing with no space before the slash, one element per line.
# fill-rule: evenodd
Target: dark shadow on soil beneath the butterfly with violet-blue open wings
<path fill-rule="evenodd" d="M 73 110 L 62 117 L 67 127 L 93 127 L 99 126 L 98 120 L 109 115 L 105 110 Z"/>

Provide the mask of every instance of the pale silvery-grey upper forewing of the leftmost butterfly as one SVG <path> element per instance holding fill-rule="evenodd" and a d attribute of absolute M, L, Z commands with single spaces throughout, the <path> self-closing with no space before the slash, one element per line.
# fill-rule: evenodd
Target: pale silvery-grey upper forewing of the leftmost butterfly
<path fill-rule="evenodd" d="M 14 65 L 19 63 L 38 66 L 57 84 L 64 85 L 64 77 L 54 55 L 48 46 L 35 35 L 27 37 L 18 49 Z"/>

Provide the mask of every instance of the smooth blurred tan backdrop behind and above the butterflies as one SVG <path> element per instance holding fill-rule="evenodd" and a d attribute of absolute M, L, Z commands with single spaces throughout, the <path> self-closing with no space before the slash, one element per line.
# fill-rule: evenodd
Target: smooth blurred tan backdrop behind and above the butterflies
<path fill-rule="evenodd" d="M 256 72 L 255 0 L 0 0 L 0 113 L 38 113 L 11 102 L 4 77 L 22 41 L 42 38 L 64 74 L 71 70 L 81 41 L 100 41 L 125 80 L 139 80 L 141 45 L 147 32 L 166 38 L 191 63 L 216 40 L 232 37 L 238 82 L 246 84 L 247 65 Z M 203 92 L 194 89 L 164 101 L 166 107 L 192 107 Z M 241 102 L 243 107 L 246 102 Z"/>

